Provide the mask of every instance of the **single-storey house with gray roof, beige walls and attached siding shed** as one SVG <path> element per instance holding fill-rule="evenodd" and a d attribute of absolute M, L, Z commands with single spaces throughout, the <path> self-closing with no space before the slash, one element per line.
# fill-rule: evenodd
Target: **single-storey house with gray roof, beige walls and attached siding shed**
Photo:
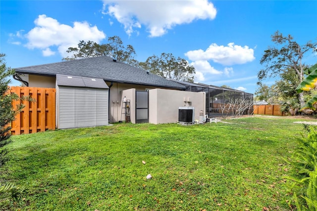
<path fill-rule="evenodd" d="M 29 87 L 56 89 L 56 127 L 132 123 L 169 123 L 178 107 L 195 107 L 198 119 L 206 93 L 107 56 L 15 68 L 14 79 Z M 128 119 L 127 119 L 128 117 Z"/>

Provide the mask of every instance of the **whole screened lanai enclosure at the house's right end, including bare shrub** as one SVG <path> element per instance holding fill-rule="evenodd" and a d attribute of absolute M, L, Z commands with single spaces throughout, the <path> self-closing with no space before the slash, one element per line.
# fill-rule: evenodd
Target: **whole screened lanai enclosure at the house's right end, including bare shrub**
<path fill-rule="evenodd" d="M 253 114 L 253 94 L 225 87 L 177 81 L 185 91 L 206 93 L 206 114 L 209 117 Z"/>

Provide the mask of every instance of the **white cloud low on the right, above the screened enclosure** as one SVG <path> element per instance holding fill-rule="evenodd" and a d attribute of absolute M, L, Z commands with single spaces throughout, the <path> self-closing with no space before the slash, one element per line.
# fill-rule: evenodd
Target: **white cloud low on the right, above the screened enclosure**
<path fill-rule="evenodd" d="M 248 46 L 237 46 L 229 43 L 227 46 L 218 46 L 213 43 L 206 51 L 201 49 L 185 53 L 192 61 L 212 60 L 222 65 L 244 64 L 255 59 L 254 50 Z"/>

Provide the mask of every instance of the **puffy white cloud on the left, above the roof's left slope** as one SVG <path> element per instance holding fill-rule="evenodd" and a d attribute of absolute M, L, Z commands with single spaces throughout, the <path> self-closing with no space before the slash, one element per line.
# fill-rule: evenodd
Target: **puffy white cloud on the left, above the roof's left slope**
<path fill-rule="evenodd" d="M 60 24 L 56 19 L 39 15 L 34 21 L 35 27 L 25 37 L 28 40 L 26 47 L 29 49 L 41 49 L 44 56 L 53 55 L 50 47 L 56 46 L 58 52 L 66 57 L 69 47 L 77 47 L 79 41 L 94 41 L 100 43 L 106 38 L 103 31 L 97 26 L 90 26 L 86 21 L 74 22 L 73 26 Z"/>

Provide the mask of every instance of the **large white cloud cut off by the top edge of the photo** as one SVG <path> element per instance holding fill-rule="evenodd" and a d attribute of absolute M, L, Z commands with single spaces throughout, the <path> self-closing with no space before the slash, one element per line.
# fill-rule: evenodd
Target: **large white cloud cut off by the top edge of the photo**
<path fill-rule="evenodd" d="M 214 19 L 216 9 L 208 0 L 104 0 L 103 13 L 123 24 L 128 35 L 145 25 L 150 37 L 198 19 Z"/>

